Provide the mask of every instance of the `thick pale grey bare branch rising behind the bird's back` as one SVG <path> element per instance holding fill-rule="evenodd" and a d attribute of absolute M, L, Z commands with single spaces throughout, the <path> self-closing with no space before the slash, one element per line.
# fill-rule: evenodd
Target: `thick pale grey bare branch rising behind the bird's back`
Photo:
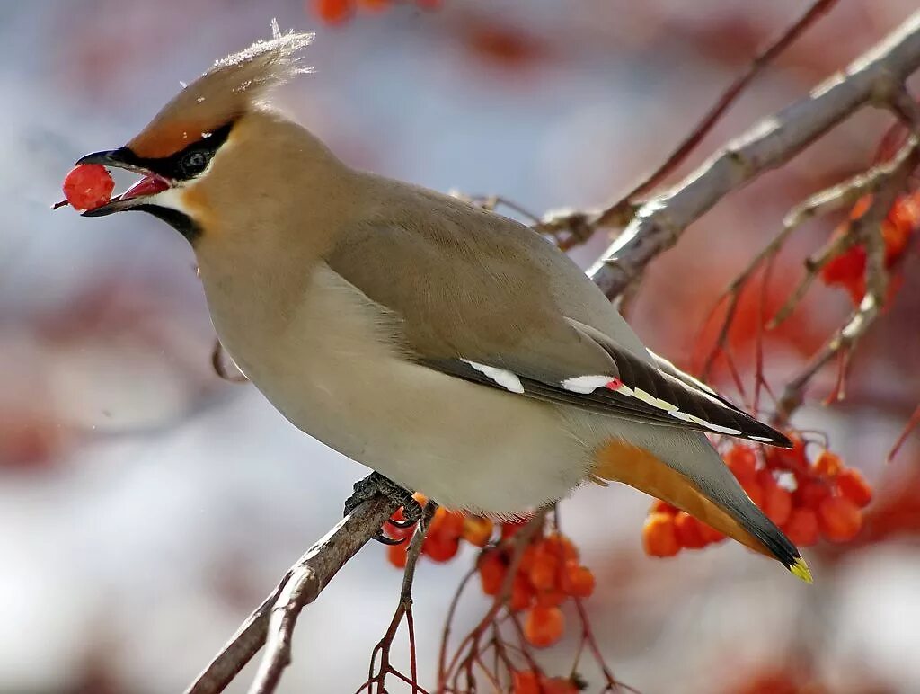
<path fill-rule="evenodd" d="M 683 182 L 646 202 L 589 273 L 614 298 L 670 249 L 684 229 L 731 191 L 785 164 L 840 121 L 866 105 L 889 106 L 903 81 L 920 67 L 920 12 L 916 12 L 844 73 L 806 98 L 754 126 Z"/>

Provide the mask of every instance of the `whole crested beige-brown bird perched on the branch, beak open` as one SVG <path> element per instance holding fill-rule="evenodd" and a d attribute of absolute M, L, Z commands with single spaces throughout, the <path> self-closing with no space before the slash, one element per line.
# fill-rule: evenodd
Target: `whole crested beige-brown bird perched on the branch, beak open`
<path fill-rule="evenodd" d="M 218 60 L 126 145 L 141 211 L 194 251 L 213 327 L 282 415 L 374 470 L 368 494 L 520 517 L 585 483 L 671 503 L 811 583 L 707 434 L 788 438 L 652 353 L 533 228 L 351 168 L 271 94 L 312 34 Z M 401 494 L 401 496 L 400 496 Z"/>

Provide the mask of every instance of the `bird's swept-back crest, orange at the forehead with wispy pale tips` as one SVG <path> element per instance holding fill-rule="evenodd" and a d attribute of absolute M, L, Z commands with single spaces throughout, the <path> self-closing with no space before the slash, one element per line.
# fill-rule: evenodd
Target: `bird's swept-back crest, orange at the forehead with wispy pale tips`
<path fill-rule="evenodd" d="M 142 157 L 169 156 L 236 120 L 272 88 L 310 71 L 298 53 L 313 34 L 282 34 L 271 22 L 272 38 L 213 64 L 180 91 L 128 146 Z"/>

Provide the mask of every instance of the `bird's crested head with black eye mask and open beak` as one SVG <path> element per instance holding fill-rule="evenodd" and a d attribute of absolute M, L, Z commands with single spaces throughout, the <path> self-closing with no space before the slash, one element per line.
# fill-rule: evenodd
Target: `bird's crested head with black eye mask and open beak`
<path fill-rule="evenodd" d="M 184 87 L 127 145 L 80 158 L 78 164 L 143 176 L 83 215 L 140 210 L 174 226 L 194 245 L 222 216 L 245 218 L 252 214 L 252 201 L 270 197 L 275 179 L 290 175 L 285 170 L 290 163 L 279 163 L 290 157 L 280 155 L 304 150 L 304 140 L 312 141 L 302 128 L 268 110 L 264 98 L 272 87 L 306 72 L 298 52 L 313 35 L 273 29 L 273 39 L 218 61 Z"/>

